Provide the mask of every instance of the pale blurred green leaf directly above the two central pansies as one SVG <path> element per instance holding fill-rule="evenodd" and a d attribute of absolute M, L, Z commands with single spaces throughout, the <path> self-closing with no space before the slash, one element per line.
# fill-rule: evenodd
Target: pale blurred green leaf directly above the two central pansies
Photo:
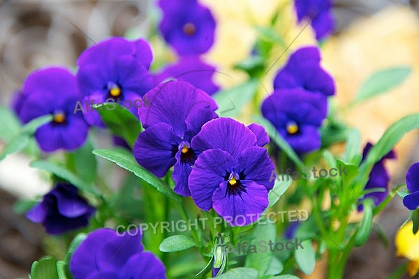
<path fill-rule="evenodd" d="M 249 80 L 244 84 L 217 92 L 212 96 L 219 109 L 217 113 L 222 117 L 235 117 L 240 115 L 244 105 L 255 96 L 258 89 L 257 80 Z"/>

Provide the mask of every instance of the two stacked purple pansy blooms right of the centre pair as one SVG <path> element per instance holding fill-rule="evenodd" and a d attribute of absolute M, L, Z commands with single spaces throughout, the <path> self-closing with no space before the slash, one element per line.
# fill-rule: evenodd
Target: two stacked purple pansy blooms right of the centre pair
<path fill-rule="evenodd" d="M 335 93 L 335 83 L 320 61 L 317 47 L 302 47 L 291 54 L 274 78 L 274 92 L 261 107 L 263 116 L 301 154 L 320 148 L 327 97 Z"/>

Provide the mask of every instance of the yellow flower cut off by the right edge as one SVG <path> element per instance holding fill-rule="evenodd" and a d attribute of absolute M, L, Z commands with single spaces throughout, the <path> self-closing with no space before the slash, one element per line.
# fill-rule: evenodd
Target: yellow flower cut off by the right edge
<path fill-rule="evenodd" d="M 407 272 L 413 277 L 419 272 L 419 233 L 413 234 L 413 222 L 410 221 L 399 229 L 395 237 L 397 257 L 409 259 Z"/>

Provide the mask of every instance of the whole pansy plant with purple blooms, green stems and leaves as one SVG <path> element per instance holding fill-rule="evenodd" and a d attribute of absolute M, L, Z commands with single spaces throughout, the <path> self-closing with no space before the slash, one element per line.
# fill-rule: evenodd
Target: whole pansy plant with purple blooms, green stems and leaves
<path fill-rule="evenodd" d="M 385 161 L 419 114 L 362 152 L 322 65 L 331 1 L 278 2 L 253 27 L 247 57 L 228 66 L 206 56 L 223 28 L 210 4 L 160 0 L 147 38 L 106 38 L 80 54 L 75 73 L 45 66 L 27 77 L 13 112 L 1 110 L 13 136 L 0 159 L 24 151 L 51 174 L 54 188 L 20 207 L 62 246 L 34 262 L 32 279 L 297 278 L 320 259 L 328 278 L 342 278 L 396 193 L 418 231 L 418 163 L 407 186 L 390 188 Z M 293 45 L 286 13 L 292 26 L 311 24 L 313 43 Z M 353 105 L 409 72 L 376 73 Z"/>

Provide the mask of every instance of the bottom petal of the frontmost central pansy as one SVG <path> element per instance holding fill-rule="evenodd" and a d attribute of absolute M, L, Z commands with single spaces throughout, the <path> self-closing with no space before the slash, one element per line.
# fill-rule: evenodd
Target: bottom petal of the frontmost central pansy
<path fill-rule="evenodd" d="M 227 193 L 228 182 L 221 183 L 212 195 L 213 208 L 232 226 L 245 226 L 257 220 L 269 201 L 265 186 L 254 181 L 243 181 L 244 191 L 237 195 Z"/>

